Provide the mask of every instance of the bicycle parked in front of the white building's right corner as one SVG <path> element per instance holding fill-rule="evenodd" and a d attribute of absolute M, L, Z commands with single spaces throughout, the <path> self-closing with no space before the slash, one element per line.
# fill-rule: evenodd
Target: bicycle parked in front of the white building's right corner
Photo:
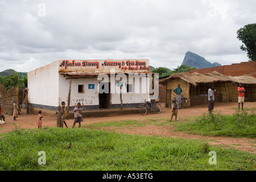
<path fill-rule="evenodd" d="M 152 105 L 151 105 L 152 104 Z M 142 115 L 146 115 L 148 113 L 156 113 L 159 114 L 162 111 L 162 106 L 160 105 L 159 97 L 156 99 L 151 99 L 151 101 L 144 101 L 141 105 L 139 105 L 139 112 Z"/>

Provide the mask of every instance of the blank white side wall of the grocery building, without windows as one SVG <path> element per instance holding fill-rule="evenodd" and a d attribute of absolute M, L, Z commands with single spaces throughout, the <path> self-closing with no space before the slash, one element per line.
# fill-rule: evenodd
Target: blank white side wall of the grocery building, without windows
<path fill-rule="evenodd" d="M 59 62 L 27 73 L 29 107 L 55 110 L 59 105 Z"/>

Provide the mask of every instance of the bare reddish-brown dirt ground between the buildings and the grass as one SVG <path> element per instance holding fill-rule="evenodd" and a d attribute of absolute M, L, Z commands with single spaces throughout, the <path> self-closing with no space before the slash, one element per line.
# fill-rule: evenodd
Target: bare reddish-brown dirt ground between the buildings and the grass
<path fill-rule="evenodd" d="M 161 104 L 164 105 L 163 103 Z M 220 110 L 221 114 L 231 115 L 236 112 L 234 108 L 237 107 L 237 103 L 234 102 L 217 102 L 214 106 L 214 109 Z M 245 107 L 256 107 L 256 102 L 245 102 Z M 178 117 L 176 122 L 184 122 L 185 117 L 195 117 L 199 116 L 203 113 L 206 113 L 208 109 L 207 105 L 193 106 L 186 109 L 178 110 Z M 12 123 L 17 123 L 19 129 L 34 129 L 36 128 L 36 118 L 37 115 L 34 114 L 26 114 L 26 109 L 22 109 L 20 115 L 18 115 L 17 121 L 13 121 L 12 115 L 6 116 L 6 124 L 0 125 L 0 134 L 7 133 L 9 131 L 15 130 L 14 125 Z M 105 121 L 122 121 L 123 119 L 147 119 L 147 118 L 170 118 L 170 109 L 167 107 L 162 108 L 162 112 L 160 114 L 125 114 L 125 115 L 112 115 L 109 117 L 84 117 L 84 121 L 82 125 L 92 124 L 97 122 L 105 122 Z M 56 127 L 56 117 L 53 115 L 52 117 L 43 117 L 43 127 Z M 67 119 L 68 127 L 72 127 L 73 119 Z M 174 119 L 173 119 L 173 122 Z M 78 124 L 76 125 L 76 127 Z M 64 126 L 65 127 L 65 126 Z M 205 137 L 200 135 L 192 135 L 187 134 L 182 131 L 174 131 L 175 126 L 157 126 L 157 125 L 146 125 L 141 127 L 133 127 L 132 129 L 129 127 L 120 128 L 102 128 L 102 130 L 111 130 L 118 133 L 126 133 L 126 134 L 137 134 L 137 135 L 158 135 L 165 137 L 178 137 L 178 138 L 191 138 L 191 139 L 205 139 L 212 145 L 219 145 L 221 147 L 226 148 L 236 148 L 242 151 L 248 151 L 253 154 L 256 154 L 256 139 L 247 139 L 247 138 L 230 138 L 230 137 Z"/>

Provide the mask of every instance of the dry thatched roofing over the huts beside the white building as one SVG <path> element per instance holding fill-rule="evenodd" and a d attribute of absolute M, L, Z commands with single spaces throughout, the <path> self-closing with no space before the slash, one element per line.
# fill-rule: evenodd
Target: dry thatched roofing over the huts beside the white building
<path fill-rule="evenodd" d="M 167 77 L 163 80 L 160 80 L 160 84 L 165 84 L 166 81 L 174 80 L 176 78 L 180 78 L 181 80 L 187 81 L 193 86 L 197 86 L 197 84 L 209 84 L 214 82 L 241 82 L 242 84 L 256 84 L 256 78 L 250 75 L 245 76 L 225 76 L 218 72 L 212 73 L 174 73 L 170 77 Z"/>

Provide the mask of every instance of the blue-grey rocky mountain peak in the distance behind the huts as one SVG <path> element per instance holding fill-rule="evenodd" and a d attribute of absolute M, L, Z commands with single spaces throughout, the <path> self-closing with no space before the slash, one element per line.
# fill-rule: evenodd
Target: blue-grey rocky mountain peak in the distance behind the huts
<path fill-rule="evenodd" d="M 210 63 L 209 61 L 205 60 L 204 57 L 189 51 L 185 54 L 183 63 L 181 65 L 189 65 L 190 67 L 196 67 L 197 69 L 222 66 L 220 63 Z"/>

